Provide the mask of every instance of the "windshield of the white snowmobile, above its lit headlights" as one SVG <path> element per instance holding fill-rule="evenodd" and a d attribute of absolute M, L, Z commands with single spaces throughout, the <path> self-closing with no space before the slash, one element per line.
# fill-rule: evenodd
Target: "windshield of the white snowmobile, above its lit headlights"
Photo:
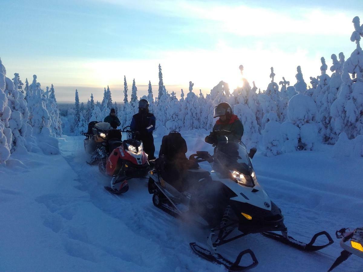
<path fill-rule="evenodd" d="M 238 140 L 218 142 L 214 161 L 218 172 L 229 173 L 231 170 L 249 175 L 253 171 L 246 146 Z"/>

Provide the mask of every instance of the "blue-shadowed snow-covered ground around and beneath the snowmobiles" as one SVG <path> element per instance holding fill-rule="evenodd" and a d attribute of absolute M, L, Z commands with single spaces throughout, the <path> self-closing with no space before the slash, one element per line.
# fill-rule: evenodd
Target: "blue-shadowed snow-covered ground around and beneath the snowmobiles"
<path fill-rule="evenodd" d="M 212 151 L 205 132 L 182 135 L 188 155 Z M 59 140 L 60 155 L 29 153 L 23 164 L 0 166 L 0 271 L 225 271 L 192 253 L 189 242 L 205 244 L 208 231 L 154 207 L 147 179 L 112 195 L 103 189 L 110 178 L 85 163 L 83 136 Z M 160 142 L 155 137 L 155 154 Z M 253 165 L 289 234 L 308 242 L 326 230 L 333 245 L 306 253 L 252 234 L 220 252 L 234 259 L 251 248 L 259 261 L 252 271 L 327 271 L 341 251 L 335 231 L 363 224 L 363 158 L 333 158 L 332 149 L 257 153 Z M 351 256 L 335 271 L 362 270 L 362 260 Z"/>

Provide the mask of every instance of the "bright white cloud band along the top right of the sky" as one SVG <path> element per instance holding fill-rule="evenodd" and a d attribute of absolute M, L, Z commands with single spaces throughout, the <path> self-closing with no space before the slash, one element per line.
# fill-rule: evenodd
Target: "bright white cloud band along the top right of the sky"
<path fill-rule="evenodd" d="M 196 27 L 205 29 L 205 21 L 221 32 L 238 36 L 270 36 L 274 34 L 346 35 L 356 14 L 337 9 L 285 7 L 276 9 L 213 1 L 99 0 L 165 17 L 189 18 Z M 198 20 L 205 20 L 200 22 Z M 189 26 L 188 26 L 189 27 Z"/>

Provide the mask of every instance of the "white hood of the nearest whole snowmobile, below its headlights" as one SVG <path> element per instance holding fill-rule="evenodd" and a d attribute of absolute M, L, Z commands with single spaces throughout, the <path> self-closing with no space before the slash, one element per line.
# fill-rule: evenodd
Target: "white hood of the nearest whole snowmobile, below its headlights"
<path fill-rule="evenodd" d="M 261 209 L 271 210 L 271 199 L 262 188 L 262 186 L 256 180 L 253 187 L 247 187 L 238 184 L 237 182 L 231 180 L 230 178 L 220 178 L 217 172 L 211 172 L 212 180 L 219 181 L 231 189 L 237 196 L 232 197 L 234 201 L 239 201 L 243 203 L 249 203 L 253 206 L 259 207 Z"/>

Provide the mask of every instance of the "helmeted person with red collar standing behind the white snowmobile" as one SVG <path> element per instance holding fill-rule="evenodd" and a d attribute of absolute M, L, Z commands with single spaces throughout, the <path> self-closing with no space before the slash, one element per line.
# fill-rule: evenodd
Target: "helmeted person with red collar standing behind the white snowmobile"
<path fill-rule="evenodd" d="M 222 102 L 214 107 L 213 118 L 217 117 L 219 119 L 216 121 L 213 131 L 205 137 L 205 142 L 216 145 L 218 141 L 240 141 L 243 135 L 243 125 L 237 115 L 233 114 L 231 105 Z"/>

